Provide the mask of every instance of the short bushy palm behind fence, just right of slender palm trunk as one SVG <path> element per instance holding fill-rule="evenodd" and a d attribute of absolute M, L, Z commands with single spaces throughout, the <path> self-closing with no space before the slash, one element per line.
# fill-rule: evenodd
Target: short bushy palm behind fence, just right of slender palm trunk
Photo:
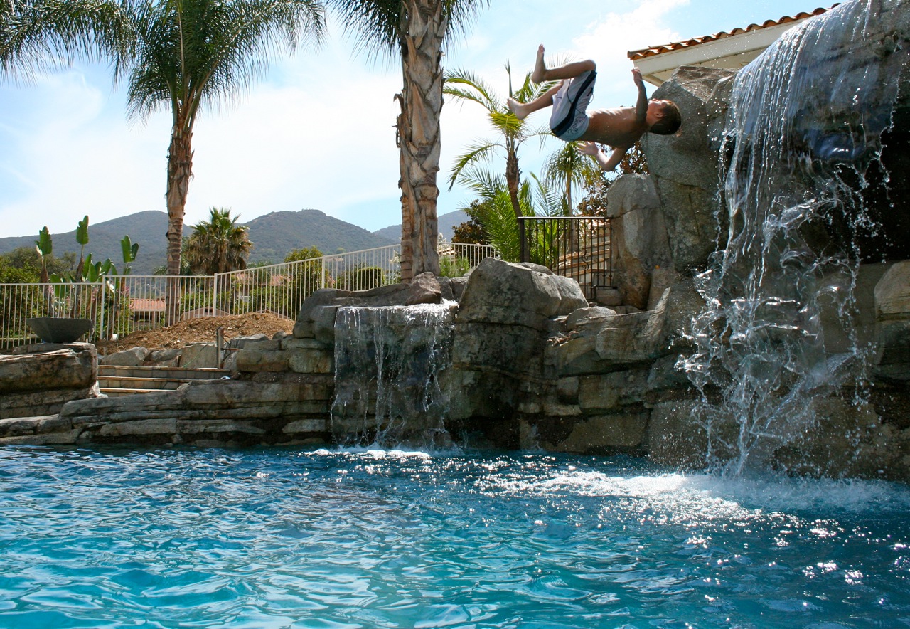
<path fill-rule="evenodd" d="M 197 275 L 214 275 L 247 268 L 252 243 L 249 228 L 231 218 L 230 208 L 210 208 L 207 221 L 199 221 L 187 238 L 189 270 Z"/>

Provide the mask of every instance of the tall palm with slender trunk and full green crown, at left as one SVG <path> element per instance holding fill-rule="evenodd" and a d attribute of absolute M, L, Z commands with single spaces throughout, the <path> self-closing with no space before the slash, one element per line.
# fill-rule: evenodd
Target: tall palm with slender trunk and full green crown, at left
<path fill-rule="evenodd" d="M 201 107 L 229 101 L 278 54 L 321 40 L 319 0 L 126 0 L 133 46 L 118 59 L 128 76 L 128 108 L 145 118 L 158 107 L 172 117 L 167 150 L 167 272 L 180 270 L 193 127 Z"/>

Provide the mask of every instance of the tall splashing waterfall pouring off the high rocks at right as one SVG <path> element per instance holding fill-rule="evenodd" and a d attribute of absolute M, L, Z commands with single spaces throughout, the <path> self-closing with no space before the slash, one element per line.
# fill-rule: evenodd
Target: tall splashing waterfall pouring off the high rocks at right
<path fill-rule="evenodd" d="M 875 236 L 863 198 L 873 170 L 888 178 L 882 137 L 907 67 L 908 13 L 888 0 L 839 5 L 735 77 L 722 150 L 729 233 L 697 279 L 707 307 L 683 365 L 702 391 L 709 466 L 763 466 L 814 426 L 814 396 L 864 380 L 868 348 L 851 331 L 859 243 Z M 848 350 L 826 348 L 821 301 Z"/>

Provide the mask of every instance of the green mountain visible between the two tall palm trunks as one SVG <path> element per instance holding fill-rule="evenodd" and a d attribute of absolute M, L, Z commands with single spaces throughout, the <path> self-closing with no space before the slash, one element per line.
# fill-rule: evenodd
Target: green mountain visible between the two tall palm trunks
<path fill-rule="evenodd" d="M 291 249 L 316 247 L 323 253 L 339 249 L 358 251 L 394 245 L 398 238 L 385 238 L 318 209 L 272 212 L 247 223 L 253 251 L 251 263 L 280 262 Z"/>

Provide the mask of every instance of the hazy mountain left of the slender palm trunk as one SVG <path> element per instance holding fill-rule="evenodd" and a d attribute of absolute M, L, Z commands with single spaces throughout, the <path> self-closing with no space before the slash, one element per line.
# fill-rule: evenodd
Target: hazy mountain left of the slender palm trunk
<path fill-rule="evenodd" d="M 73 220 L 74 225 L 79 222 L 78 217 Z M 88 244 L 86 256 L 91 253 L 95 261 L 110 258 L 114 261 L 117 270 L 123 269 L 123 254 L 120 252 L 120 240 L 129 236 L 133 242 L 139 243 L 139 255 L 132 264 L 135 275 L 148 275 L 157 266 L 167 260 L 167 213 L 148 210 L 136 212 L 126 217 L 112 218 L 100 223 L 88 221 Z M 63 234 L 51 234 L 54 241 L 54 255 L 62 256 L 67 251 L 79 255 L 79 243 L 76 242 L 76 229 Z M 0 253 L 7 253 L 19 247 L 34 249 L 34 236 L 15 236 L 0 238 Z"/>

